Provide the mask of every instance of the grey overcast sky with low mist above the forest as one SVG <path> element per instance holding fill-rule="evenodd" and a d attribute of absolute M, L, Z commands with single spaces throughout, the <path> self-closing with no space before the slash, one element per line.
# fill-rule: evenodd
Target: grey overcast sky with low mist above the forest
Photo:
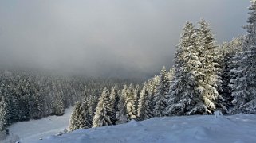
<path fill-rule="evenodd" d="M 136 77 L 171 67 L 201 17 L 216 41 L 245 33 L 249 0 L 0 0 L 0 65 Z"/>

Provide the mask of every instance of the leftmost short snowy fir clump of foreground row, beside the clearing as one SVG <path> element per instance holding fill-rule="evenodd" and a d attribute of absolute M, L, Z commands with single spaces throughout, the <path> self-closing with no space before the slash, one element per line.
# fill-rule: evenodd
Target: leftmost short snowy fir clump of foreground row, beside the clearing
<path fill-rule="evenodd" d="M 74 106 L 71 118 L 69 120 L 69 131 L 76 129 L 87 129 L 91 127 L 89 122 L 89 106 L 86 102 L 77 102 Z"/>

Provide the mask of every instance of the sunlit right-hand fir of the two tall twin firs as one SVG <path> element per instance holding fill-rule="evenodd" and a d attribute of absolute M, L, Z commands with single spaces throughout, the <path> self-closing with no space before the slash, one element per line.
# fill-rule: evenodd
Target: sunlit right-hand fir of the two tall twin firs
<path fill-rule="evenodd" d="M 215 61 L 215 56 L 218 54 L 217 46 L 209 24 L 203 19 L 199 21 L 197 33 L 199 35 L 199 61 L 202 64 L 199 72 L 203 73 L 203 79 L 199 79 L 199 88 L 201 88 L 204 105 L 207 106 L 207 114 L 212 114 L 217 108 L 226 110 L 226 106 L 220 102 L 224 99 L 217 91 L 217 83 L 220 79 L 219 64 Z"/>

